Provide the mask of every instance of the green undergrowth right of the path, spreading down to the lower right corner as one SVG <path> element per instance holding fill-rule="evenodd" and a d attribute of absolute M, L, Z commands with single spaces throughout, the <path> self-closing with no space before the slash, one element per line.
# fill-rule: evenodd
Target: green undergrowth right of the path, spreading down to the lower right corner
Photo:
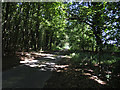
<path fill-rule="evenodd" d="M 101 55 L 89 52 L 72 53 L 72 63 L 77 67 L 87 67 L 107 82 L 108 87 L 120 87 L 120 57 L 109 53 Z M 92 67 L 92 68 L 91 68 Z"/>

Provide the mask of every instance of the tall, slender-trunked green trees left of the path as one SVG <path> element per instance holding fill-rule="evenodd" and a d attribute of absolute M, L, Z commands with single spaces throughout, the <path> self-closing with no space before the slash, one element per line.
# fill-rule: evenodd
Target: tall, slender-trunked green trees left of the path
<path fill-rule="evenodd" d="M 3 54 L 56 49 L 65 39 L 64 8 L 61 2 L 3 3 Z"/>

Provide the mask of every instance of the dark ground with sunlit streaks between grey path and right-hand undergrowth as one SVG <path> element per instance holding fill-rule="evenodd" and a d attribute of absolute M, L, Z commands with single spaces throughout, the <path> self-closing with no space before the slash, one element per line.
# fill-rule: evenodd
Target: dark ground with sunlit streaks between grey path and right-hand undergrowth
<path fill-rule="evenodd" d="M 89 66 L 80 67 L 71 63 L 70 59 L 58 62 L 60 65 L 69 65 L 54 71 L 47 80 L 44 88 L 105 88 L 107 82 L 94 75 Z"/>

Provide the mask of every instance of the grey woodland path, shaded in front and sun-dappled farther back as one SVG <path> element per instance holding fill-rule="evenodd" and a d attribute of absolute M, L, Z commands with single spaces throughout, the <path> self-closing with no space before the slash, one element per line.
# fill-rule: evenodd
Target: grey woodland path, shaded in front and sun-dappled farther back
<path fill-rule="evenodd" d="M 43 88 L 52 72 L 59 65 L 57 62 L 66 58 L 64 55 L 56 53 L 26 53 L 27 57 L 34 58 L 24 59 L 19 66 L 2 73 L 2 88 Z M 26 58 L 26 57 L 25 57 Z"/>

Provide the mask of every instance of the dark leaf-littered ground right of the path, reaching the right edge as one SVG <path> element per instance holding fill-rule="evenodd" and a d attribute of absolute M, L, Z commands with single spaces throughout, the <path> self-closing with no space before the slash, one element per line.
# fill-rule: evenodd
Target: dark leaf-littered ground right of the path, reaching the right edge
<path fill-rule="evenodd" d="M 119 61 L 114 63 L 116 67 L 91 64 L 89 61 L 83 61 L 80 65 L 71 58 L 64 58 L 57 63 L 68 67 L 53 71 L 44 88 L 120 88 Z M 105 68 L 115 69 L 115 71 Z"/>

